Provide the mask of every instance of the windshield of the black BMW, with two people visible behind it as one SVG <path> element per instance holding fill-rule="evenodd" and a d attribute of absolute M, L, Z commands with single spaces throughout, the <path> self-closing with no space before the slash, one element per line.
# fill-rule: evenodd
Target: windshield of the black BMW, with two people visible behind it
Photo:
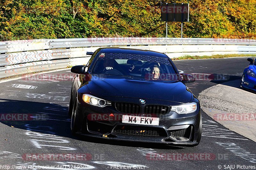
<path fill-rule="evenodd" d="M 101 53 L 92 74 L 165 81 L 179 81 L 180 78 L 167 58 L 118 53 Z"/>

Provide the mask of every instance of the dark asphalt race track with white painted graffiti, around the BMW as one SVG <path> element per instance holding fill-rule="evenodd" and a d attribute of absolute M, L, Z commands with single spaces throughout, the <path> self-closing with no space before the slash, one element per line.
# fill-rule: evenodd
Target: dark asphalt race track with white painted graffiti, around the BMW
<path fill-rule="evenodd" d="M 227 78 L 196 80 L 195 83 L 187 84 L 196 96 L 218 83 L 240 79 L 244 67 L 249 64 L 244 57 L 183 60 L 174 63 L 184 73 L 221 74 Z M 72 78 L 58 79 L 55 76 L 59 73 L 73 76 L 69 70 L 62 70 L 44 73 L 46 80 L 39 76 L 37 80 L 22 78 L 0 83 L 0 114 L 39 114 L 34 117 L 36 120 L 30 121 L 1 119 L 0 169 L 7 169 L 8 166 L 26 169 L 30 165 L 34 165 L 34 169 L 42 169 L 44 166 L 48 166 L 47 169 L 229 169 L 233 166 L 241 169 L 243 166 L 252 166 L 248 168 L 252 169 L 256 166 L 255 142 L 226 129 L 205 113 L 202 113 L 203 136 L 196 147 L 74 137 L 70 132 L 70 117 L 67 112 Z M 40 119 L 43 116 L 47 120 Z M 88 160 L 40 160 L 29 157 L 39 153 L 87 154 Z M 175 156 L 170 156 L 168 160 L 167 157 L 159 156 L 164 153 L 174 153 L 172 155 L 178 155 L 178 160 Z M 188 153 L 194 157 L 188 157 Z M 147 157 L 149 154 L 158 157 Z M 158 160 L 160 158 L 162 160 Z M 24 167 L 17 167 L 19 165 Z"/>

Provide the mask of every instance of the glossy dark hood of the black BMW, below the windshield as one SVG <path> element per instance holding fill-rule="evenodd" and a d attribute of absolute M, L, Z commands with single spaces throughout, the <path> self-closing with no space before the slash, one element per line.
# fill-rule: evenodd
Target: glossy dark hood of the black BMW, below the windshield
<path fill-rule="evenodd" d="M 96 97 L 131 97 L 188 103 L 192 93 L 182 82 L 156 82 L 131 78 L 99 78 L 90 76 L 86 85 Z"/>

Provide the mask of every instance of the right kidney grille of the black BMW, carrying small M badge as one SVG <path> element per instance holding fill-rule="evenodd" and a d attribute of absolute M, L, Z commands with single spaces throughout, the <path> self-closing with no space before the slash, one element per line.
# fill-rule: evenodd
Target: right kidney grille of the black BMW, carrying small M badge
<path fill-rule="evenodd" d="M 161 105 L 145 105 L 144 106 L 144 114 L 145 115 L 165 115 L 169 111 L 169 106 L 161 106 Z"/>

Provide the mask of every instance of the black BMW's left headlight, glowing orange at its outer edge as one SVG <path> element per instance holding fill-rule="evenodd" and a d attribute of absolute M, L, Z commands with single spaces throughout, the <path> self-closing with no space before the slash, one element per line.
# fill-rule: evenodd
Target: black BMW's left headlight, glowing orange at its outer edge
<path fill-rule="evenodd" d="M 98 97 L 95 97 L 89 94 L 83 94 L 83 100 L 85 103 L 88 103 L 93 106 L 98 106 L 98 107 L 105 107 L 107 105 L 111 105 L 111 102 L 100 99 Z"/>

